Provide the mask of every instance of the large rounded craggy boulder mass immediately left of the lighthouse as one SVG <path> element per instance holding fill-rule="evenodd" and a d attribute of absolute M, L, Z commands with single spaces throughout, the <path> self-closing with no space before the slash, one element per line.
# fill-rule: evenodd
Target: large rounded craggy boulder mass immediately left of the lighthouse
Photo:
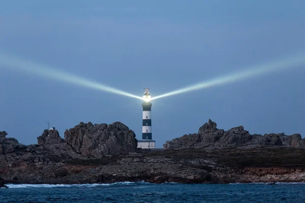
<path fill-rule="evenodd" d="M 135 133 L 120 122 L 110 125 L 81 122 L 65 131 L 65 141 L 76 152 L 94 157 L 134 152 L 137 148 L 135 137 Z"/>

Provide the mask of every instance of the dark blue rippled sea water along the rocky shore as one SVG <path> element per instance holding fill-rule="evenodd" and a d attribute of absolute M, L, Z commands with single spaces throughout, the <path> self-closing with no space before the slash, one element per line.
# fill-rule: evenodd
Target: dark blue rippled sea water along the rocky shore
<path fill-rule="evenodd" d="M 13 185 L 0 202 L 305 202 L 305 184 Z"/>

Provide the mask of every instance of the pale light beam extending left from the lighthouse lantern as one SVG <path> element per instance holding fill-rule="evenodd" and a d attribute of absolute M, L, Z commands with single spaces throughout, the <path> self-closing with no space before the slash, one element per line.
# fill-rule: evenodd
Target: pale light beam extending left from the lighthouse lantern
<path fill-rule="evenodd" d="M 78 76 L 74 76 L 69 73 L 64 73 L 62 71 L 54 70 L 51 69 L 50 67 L 47 67 L 46 65 L 40 65 L 28 60 L 20 59 L 6 54 L 0 54 L 0 69 L 8 68 L 8 67 L 10 67 L 10 69 L 28 72 L 31 74 L 44 76 L 50 79 L 55 79 L 66 83 L 79 85 L 82 87 L 111 92 L 111 93 L 134 97 L 142 100 L 142 97 L 140 96 L 122 90 L 118 90 L 113 87 L 100 84 L 98 82 L 94 82 Z"/>

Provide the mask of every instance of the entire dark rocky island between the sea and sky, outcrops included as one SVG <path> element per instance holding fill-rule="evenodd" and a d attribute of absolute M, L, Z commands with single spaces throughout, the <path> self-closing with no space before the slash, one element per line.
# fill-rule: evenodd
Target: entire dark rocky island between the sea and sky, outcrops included
<path fill-rule="evenodd" d="M 209 120 L 198 133 L 137 148 L 135 133 L 120 122 L 83 123 L 44 130 L 38 144 L 22 145 L 0 132 L 0 187 L 16 184 L 305 182 L 305 139 L 300 134 L 227 131 Z M 2 177 L 2 178 L 1 178 Z"/>

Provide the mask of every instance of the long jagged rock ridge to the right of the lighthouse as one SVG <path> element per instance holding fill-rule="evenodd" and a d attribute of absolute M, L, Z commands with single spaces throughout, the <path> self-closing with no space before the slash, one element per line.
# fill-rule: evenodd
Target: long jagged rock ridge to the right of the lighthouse
<path fill-rule="evenodd" d="M 167 141 L 165 149 L 189 148 L 253 148 L 266 146 L 285 146 L 304 148 L 305 139 L 300 134 L 286 136 L 284 133 L 253 134 L 243 129 L 243 126 L 233 127 L 227 131 L 218 129 L 217 124 L 210 119 L 199 128 L 198 133 L 185 134 L 180 138 Z"/>

